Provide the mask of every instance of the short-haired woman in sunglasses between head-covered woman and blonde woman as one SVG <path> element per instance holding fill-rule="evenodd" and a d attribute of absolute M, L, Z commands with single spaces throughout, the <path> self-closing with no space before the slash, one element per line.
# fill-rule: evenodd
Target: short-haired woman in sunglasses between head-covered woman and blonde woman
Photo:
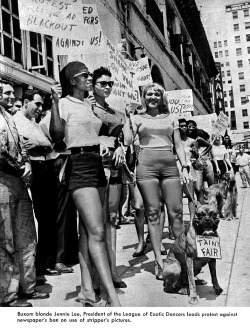
<path fill-rule="evenodd" d="M 132 139 L 130 120 L 123 119 L 122 113 L 118 113 L 106 102 L 113 87 L 111 72 L 100 67 L 93 72 L 93 91 L 96 100 L 93 111 L 103 122 L 99 136 L 101 142 L 109 149 L 109 156 L 103 157 L 107 186 L 102 190 L 102 198 L 105 199 L 104 216 L 106 242 L 111 266 L 113 283 L 116 288 L 126 288 L 116 268 L 116 221 L 122 190 L 121 166 L 124 163 L 122 142 Z M 129 113 L 128 113 L 129 115 Z M 97 287 L 97 286 L 96 286 Z"/>

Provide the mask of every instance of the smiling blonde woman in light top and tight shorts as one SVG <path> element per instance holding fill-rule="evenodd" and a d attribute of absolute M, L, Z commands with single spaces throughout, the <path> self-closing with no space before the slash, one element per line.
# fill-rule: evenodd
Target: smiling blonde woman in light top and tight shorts
<path fill-rule="evenodd" d="M 155 255 L 156 279 L 162 280 L 159 190 L 167 208 L 174 237 L 183 231 L 182 188 L 173 145 L 182 165 L 185 182 L 188 181 L 188 170 L 179 124 L 169 114 L 165 90 L 157 83 L 149 84 L 143 90 L 142 101 L 145 113 L 133 117 L 133 133 L 138 135 L 141 149 L 136 167 L 136 181 L 145 206 Z"/>

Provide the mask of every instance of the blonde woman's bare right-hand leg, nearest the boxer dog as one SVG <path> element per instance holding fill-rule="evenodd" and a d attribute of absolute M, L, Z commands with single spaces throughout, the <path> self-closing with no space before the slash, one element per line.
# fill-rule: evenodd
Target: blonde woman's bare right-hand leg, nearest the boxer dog
<path fill-rule="evenodd" d="M 175 238 L 184 230 L 182 219 L 182 187 L 179 179 L 161 181 L 161 192 L 167 207 L 168 220 Z"/>

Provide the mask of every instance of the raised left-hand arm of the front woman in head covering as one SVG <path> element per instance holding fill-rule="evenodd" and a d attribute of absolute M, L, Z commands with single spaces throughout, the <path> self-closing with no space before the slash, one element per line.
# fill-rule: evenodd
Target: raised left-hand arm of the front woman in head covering
<path fill-rule="evenodd" d="M 59 113 L 59 97 L 58 94 L 62 92 L 60 84 L 55 84 L 51 87 L 52 92 L 52 108 L 51 108 L 51 119 L 49 126 L 49 133 L 52 140 L 60 142 L 64 139 L 64 121 L 60 117 Z"/>

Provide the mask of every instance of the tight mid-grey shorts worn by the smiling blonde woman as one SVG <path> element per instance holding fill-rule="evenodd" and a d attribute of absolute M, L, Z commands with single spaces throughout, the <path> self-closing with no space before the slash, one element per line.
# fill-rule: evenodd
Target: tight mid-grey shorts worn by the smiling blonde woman
<path fill-rule="evenodd" d="M 142 149 L 136 167 L 136 180 L 180 179 L 171 150 Z"/>

